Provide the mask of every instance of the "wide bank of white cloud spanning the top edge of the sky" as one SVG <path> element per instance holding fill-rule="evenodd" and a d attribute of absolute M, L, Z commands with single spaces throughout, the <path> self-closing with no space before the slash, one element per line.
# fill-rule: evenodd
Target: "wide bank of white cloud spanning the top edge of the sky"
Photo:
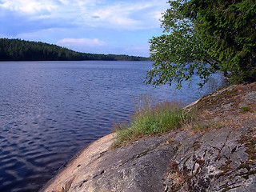
<path fill-rule="evenodd" d="M 1 7 L 26 14 L 28 21 L 51 18 L 66 24 L 141 30 L 159 27 L 166 0 L 2 0 Z"/>

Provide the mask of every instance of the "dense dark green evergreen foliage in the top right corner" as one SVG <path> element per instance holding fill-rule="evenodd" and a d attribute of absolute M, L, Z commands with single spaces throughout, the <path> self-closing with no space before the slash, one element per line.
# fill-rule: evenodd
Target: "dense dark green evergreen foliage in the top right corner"
<path fill-rule="evenodd" d="M 256 80 L 256 2 L 191 0 L 183 8 L 222 70 L 234 80 Z"/>

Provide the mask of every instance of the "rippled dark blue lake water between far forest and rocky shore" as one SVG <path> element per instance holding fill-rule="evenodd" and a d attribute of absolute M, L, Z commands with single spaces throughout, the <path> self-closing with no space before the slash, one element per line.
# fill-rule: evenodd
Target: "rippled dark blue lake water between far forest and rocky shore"
<path fill-rule="evenodd" d="M 187 104 L 211 91 L 146 86 L 150 68 L 151 62 L 0 62 L 0 191 L 37 191 L 83 146 L 126 121 L 134 98 Z"/>

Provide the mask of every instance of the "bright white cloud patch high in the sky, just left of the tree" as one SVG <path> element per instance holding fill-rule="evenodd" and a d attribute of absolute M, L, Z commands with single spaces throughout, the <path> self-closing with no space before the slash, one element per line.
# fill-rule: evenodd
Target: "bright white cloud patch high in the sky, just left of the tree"
<path fill-rule="evenodd" d="M 142 30 L 159 27 L 161 13 L 166 10 L 166 1 L 115 1 L 107 6 L 94 9 L 82 9 L 78 22 L 90 26 L 105 26 L 113 29 Z M 98 20 L 90 19 L 89 15 L 98 15 Z"/>

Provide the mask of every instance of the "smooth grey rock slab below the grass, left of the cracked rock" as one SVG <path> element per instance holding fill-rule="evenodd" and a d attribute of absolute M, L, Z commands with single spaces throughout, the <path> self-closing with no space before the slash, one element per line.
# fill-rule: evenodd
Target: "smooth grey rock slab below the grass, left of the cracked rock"
<path fill-rule="evenodd" d="M 167 138 L 147 138 L 104 154 L 96 167 L 102 174 L 74 191 L 163 191 L 163 176 L 176 154 Z"/>

